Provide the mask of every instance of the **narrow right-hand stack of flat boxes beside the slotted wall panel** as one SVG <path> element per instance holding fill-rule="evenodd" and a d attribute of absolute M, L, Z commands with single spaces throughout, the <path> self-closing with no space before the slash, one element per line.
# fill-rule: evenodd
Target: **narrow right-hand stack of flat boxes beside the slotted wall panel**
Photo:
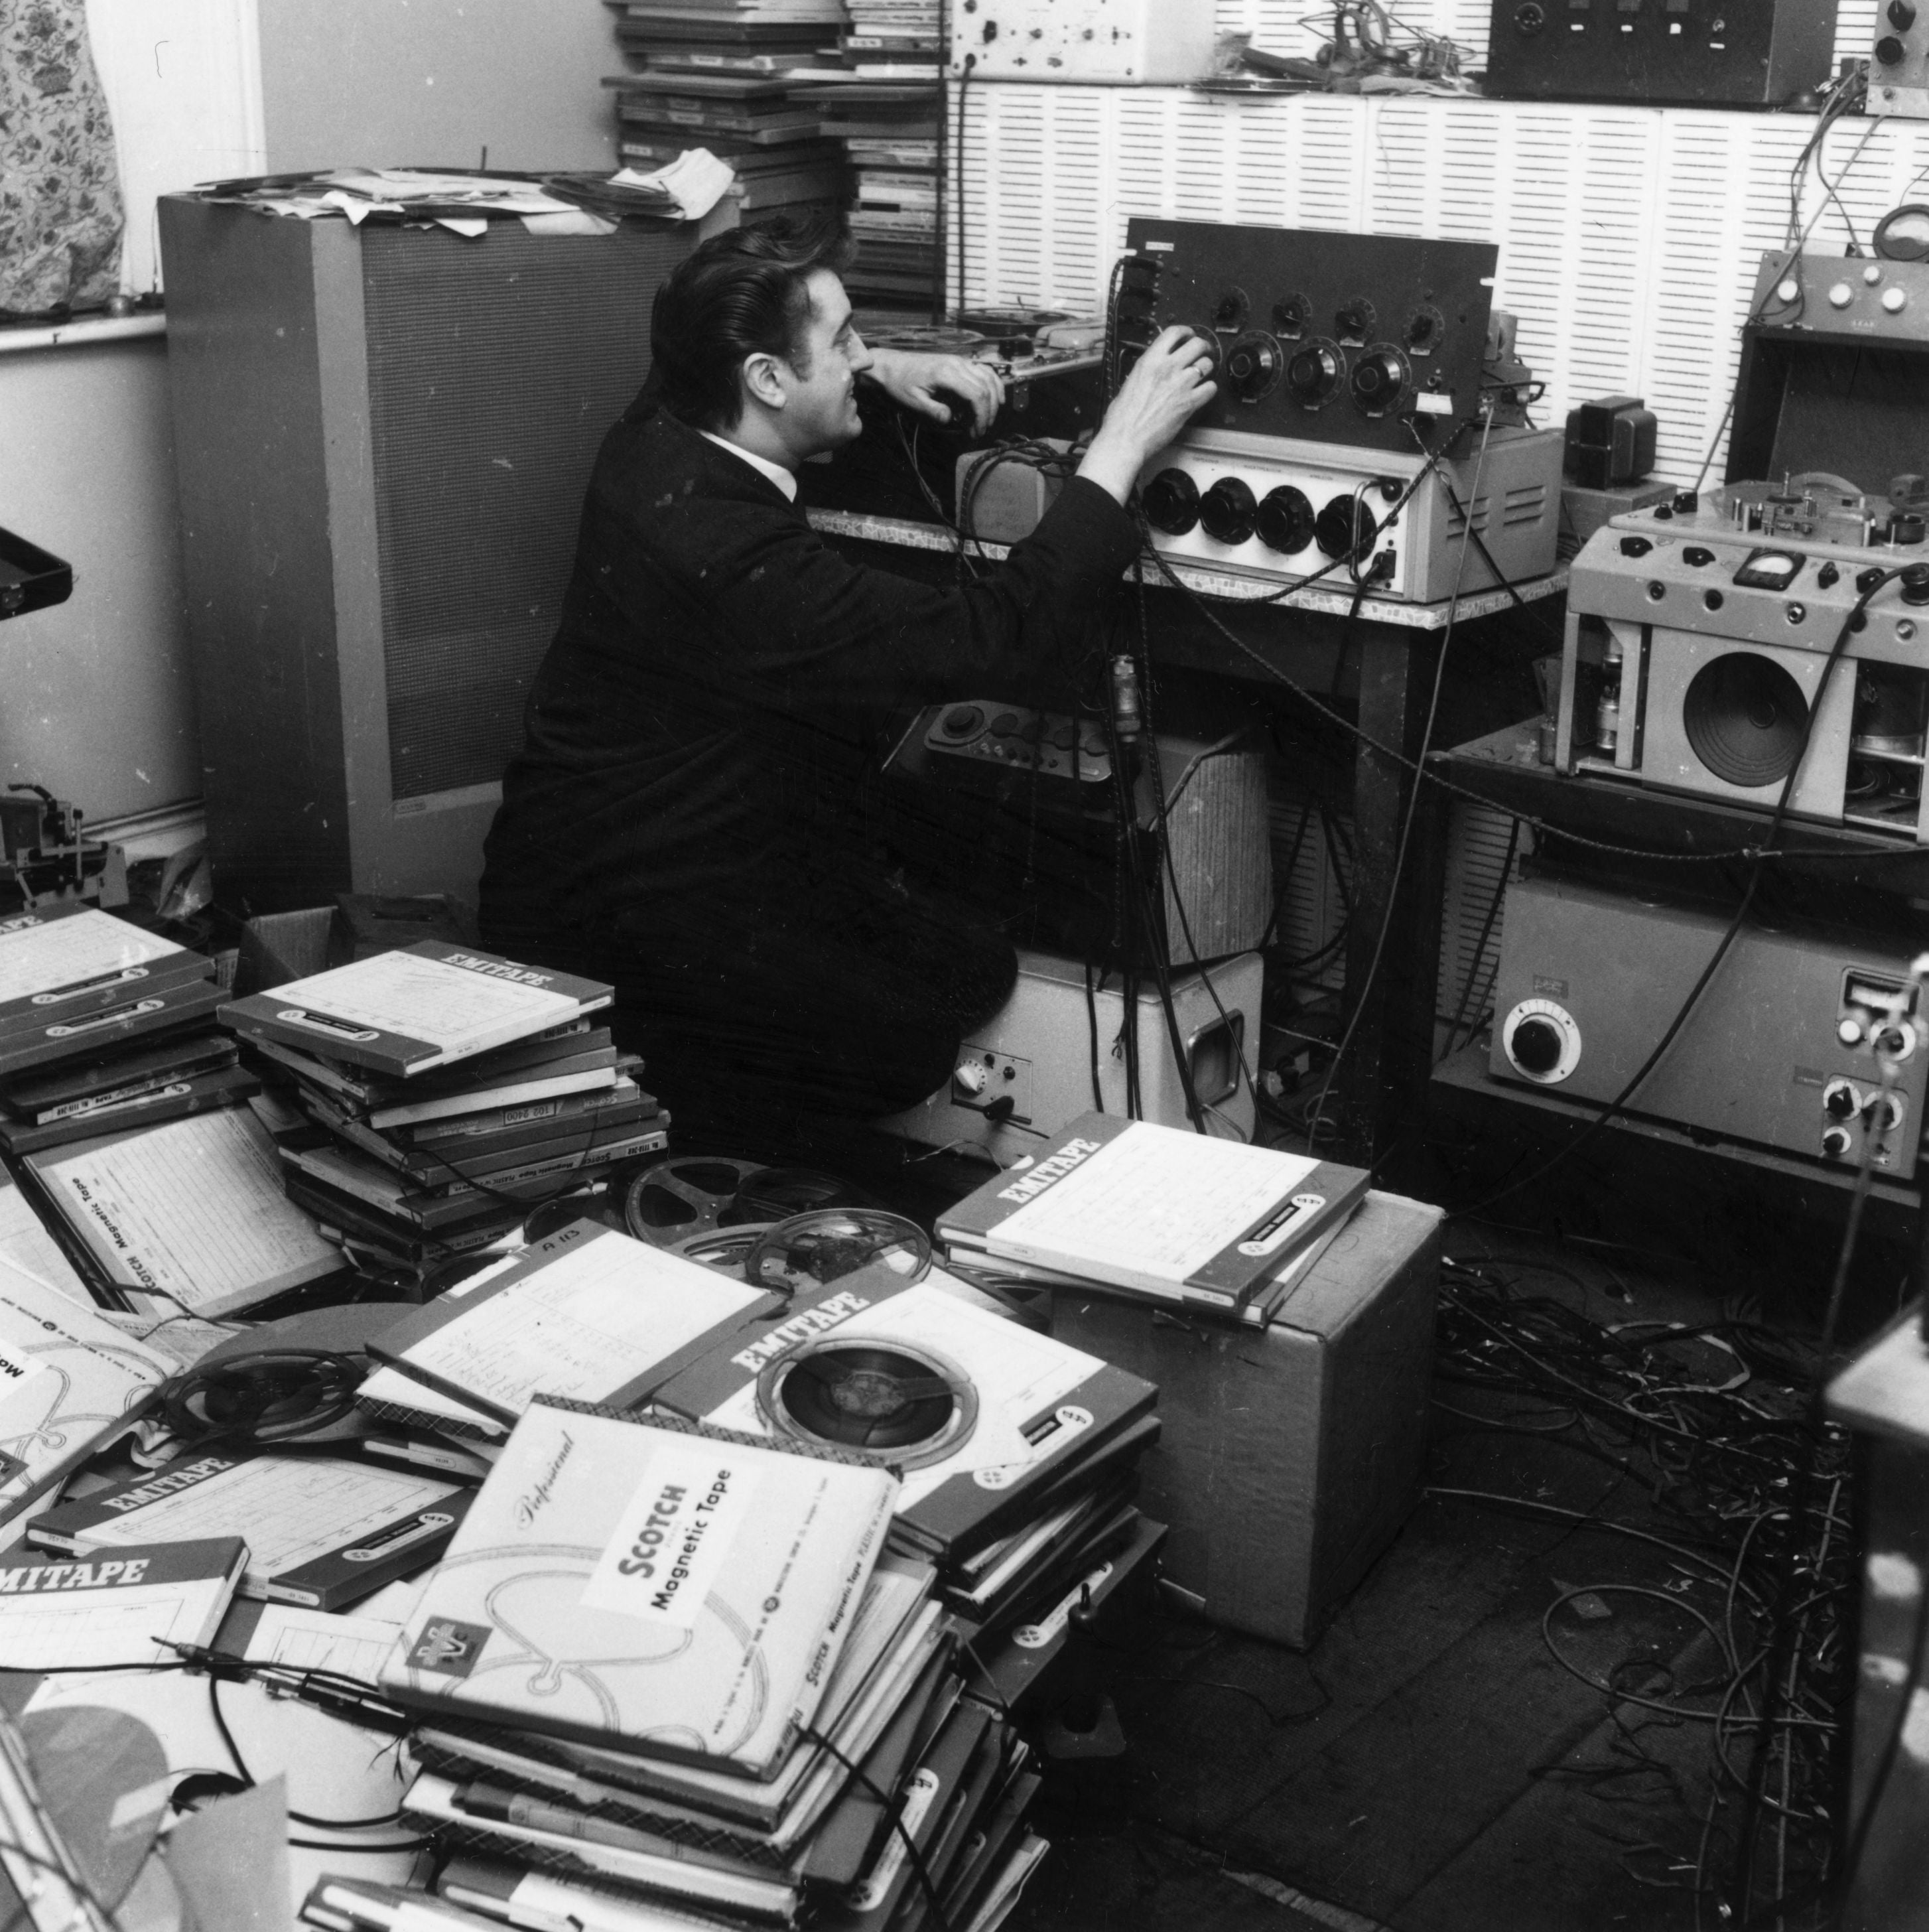
<path fill-rule="evenodd" d="M 838 52 L 857 85 L 825 102 L 825 131 L 844 141 L 855 207 L 852 299 L 929 319 L 940 296 L 938 0 L 850 0 Z"/>

